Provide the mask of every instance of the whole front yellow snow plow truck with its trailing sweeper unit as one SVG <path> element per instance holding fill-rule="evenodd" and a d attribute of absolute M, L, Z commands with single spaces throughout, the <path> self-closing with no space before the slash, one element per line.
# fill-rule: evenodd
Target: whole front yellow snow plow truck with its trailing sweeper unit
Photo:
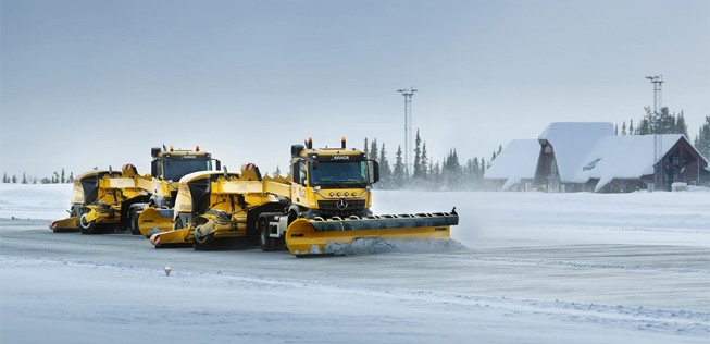
<path fill-rule="evenodd" d="M 253 170 L 258 172 L 258 170 Z M 364 152 L 346 148 L 291 146 L 288 177 L 195 173 L 180 180 L 174 231 L 151 236 L 155 247 L 220 237 L 258 239 L 262 250 L 284 247 L 297 257 L 339 254 L 361 238 L 448 239 L 459 222 L 451 212 L 384 214 L 370 211 L 379 167 Z M 257 173 L 258 174 L 258 173 Z M 208 201 L 209 200 L 209 201 Z"/>

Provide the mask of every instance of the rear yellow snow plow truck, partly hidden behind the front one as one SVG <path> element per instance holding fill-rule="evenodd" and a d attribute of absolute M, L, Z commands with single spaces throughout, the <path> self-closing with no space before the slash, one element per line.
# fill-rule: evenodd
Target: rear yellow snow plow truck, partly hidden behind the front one
<path fill-rule="evenodd" d="M 212 168 L 210 153 L 196 150 L 152 148 L 151 174 L 140 175 L 133 164 L 122 170 L 94 170 L 74 181 L 70 218 L 54 221 L 54 232 L 80 231 L 94 234 L 102 228 L 117 226 L 140 234 L 137 219 L 145 208 L 170 211 L 183 175 Z M 217 167 L 220 164 L 216 161 Z M 175 181 L 175 182 L 174 182 Z"/>

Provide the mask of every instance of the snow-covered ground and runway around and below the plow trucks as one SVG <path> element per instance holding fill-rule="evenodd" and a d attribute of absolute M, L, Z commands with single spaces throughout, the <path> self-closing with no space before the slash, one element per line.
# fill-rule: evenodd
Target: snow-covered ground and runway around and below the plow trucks
<path fill-rule="evenodd" d="M 0 184 L 1 343 L 710 341 L 707 192 L 377 191 L 465 248 L 319 259 L 51 233 L 70 194 Z"/>

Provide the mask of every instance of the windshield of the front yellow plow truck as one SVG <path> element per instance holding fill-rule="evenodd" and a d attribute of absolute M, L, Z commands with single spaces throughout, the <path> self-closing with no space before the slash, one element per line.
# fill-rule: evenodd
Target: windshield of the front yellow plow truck
<path fill-rule="evenodd" d="M 368 162 L 316 162 L 311 163 L 311 185 L 337 187 L 368 184 Z"/>

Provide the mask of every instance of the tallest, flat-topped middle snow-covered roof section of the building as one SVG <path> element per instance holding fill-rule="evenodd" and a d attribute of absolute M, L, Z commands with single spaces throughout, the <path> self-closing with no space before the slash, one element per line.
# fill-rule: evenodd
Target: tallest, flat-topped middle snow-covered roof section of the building
<path fill-rule="evenodd" d="M 569 183 L 576 182 L 577 168 L 591 148 L 609 136 L 614 136 L 614 125 L 609 122 L 556 122 L 538 138 L 552 145 L 560 180 Z"/>

